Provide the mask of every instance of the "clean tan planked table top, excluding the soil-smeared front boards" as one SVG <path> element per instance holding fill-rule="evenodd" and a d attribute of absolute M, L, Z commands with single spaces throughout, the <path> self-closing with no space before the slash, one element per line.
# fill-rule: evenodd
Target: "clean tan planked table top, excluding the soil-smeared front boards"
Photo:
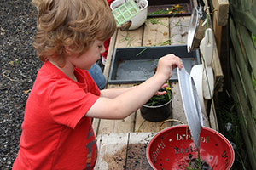
<path fill-rule="evenodd" d="M 187 41 L 189 20 L 190 16 L 149 18 L 143 26 L 136 30 L 117 30 L 111 38 L 108 49 L 107 63 L 104 70 L 104 75 L 107 77 L 107 80 L 114 48 L 154 46 L 169 39 L 171 40 L 169 45 L 184 45 Z M 223 77 L 221 69 L 218 69 L 221 67 L 219 64 L 217 48 L 214 48 L 212 68 L 214 70 L 215 77 Z M 108 84 L 107 82 L 107 88 L 125 88 L 131 86 L 134 86 L 134 84 Z M 172 82 L 171 86 L 173 93 L 172 118 L 187 124 L 178 82 Z M 214 108 L 210 113 L 203 114 L 203 117 L 204 126 L 218 129 Z M 172 126 L 172 124 L 177 123 L 169 122 L 163 127 L 169 127 Z M 124 120 L 95 119 L 93 127 L 96 135 L 104 133 L 136 133 L 138 130 L 143 133 L 151 133 L 159 131 L 160 122 L 145 121 L 138 110 L 131 114 L 131 116 L 126 117 Z"/>

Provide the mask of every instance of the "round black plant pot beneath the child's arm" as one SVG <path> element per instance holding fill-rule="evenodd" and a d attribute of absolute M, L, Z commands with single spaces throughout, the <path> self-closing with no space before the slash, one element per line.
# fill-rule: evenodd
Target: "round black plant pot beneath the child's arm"
<path fill-rule="evenodd" d="M 141 107 L 140 110 L 143 118 L 149 122 L 164 121 L 167 118 L 172 118 L 172 99 L 170 99 L 164 105 L 143 105 L 143 107 Z"/>

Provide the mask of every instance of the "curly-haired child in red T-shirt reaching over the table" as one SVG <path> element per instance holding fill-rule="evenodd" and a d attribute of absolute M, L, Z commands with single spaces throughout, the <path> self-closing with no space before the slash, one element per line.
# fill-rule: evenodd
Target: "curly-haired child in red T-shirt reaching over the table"
<path fill-rule="evenodd" d="M 20 150 L 13 169 L 93 169 L 97 158 L 90 118 L 124 119 L 181 69 L 173 54 L 153 77 L 133 88 L 100 91 L 88 69 L 116 30 L 106 0 L 32 0 L 38 8 L 33 47 L 44 65 L 26 102 Z"/>

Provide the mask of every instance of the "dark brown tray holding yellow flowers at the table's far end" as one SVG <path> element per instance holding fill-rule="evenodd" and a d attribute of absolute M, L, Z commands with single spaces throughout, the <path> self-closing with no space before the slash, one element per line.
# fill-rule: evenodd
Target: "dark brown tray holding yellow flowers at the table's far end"
<path fill-rule="evenodd" d="M 179 10 L 182 10 L 183 13 L 175 14 L 173 11 L 172 14 L 151 14 L 148 15 L 148 17 L 168 17 L 172 15 L 185 16 L 192 13 L 192 9 L 194 8 L 193 0 L 148 0 L 148 14 L 160 10 L 166 11 L 166 9 L 171 9 L 177 4 L 179 4 L 179 6 L 181 7 L 179 8 Z"/>

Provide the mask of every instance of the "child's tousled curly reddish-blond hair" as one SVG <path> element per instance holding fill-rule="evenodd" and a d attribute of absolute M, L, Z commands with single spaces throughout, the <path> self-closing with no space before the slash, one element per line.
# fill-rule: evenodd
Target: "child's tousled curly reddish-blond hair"
<path fill-rule="evenodd" d="M 116 30 L 106 0 L 32 0 L 32 4 L 38 8 L 33 48 L 43 61 L 54 57 L 63 66 L 65 46 L 82 54 L 96 39 L 104 41 Z"/>

